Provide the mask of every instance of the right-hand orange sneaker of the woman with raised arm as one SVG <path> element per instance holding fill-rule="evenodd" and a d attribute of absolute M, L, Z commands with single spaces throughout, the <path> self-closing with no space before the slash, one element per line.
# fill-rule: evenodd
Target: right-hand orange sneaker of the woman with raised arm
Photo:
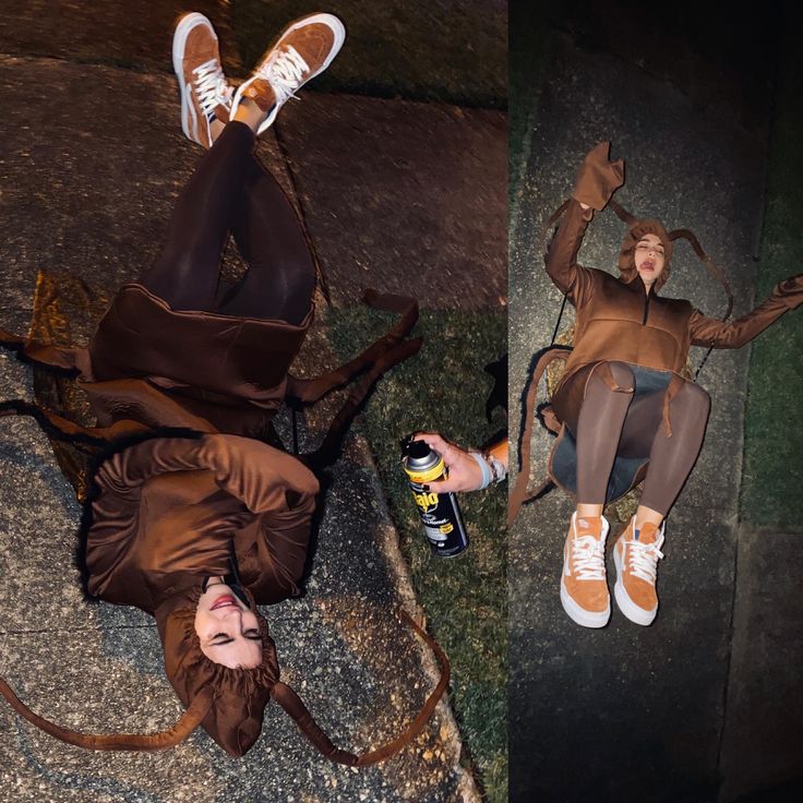
<path fill-rule="evenodd" d="M 658 561 L 663 558 L 663 524 L 656 527 L 648 523 L 636 529 L 634 516 L 613 547 L 616 564 L 613 595 L 619 610 L 636 624 L 652 624 L 658 613 L 656 573 Z"/>

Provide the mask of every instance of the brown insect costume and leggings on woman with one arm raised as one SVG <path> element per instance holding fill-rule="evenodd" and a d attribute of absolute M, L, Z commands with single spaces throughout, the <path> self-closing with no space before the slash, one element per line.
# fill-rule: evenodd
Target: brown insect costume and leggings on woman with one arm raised
<path fill-rule="evenodd" d="M 528 496 L 535 389 L 549 359 L 566 358 L 548 411 L 551 428 L 560 431 L 550 455 L 551 481 L 579 502 L 599 504 L 621 498 L 646 476 L 642 504 L 666 515 L 694 465 L 708 416 L 708 395 L 684 375 L 690 347 L 740 348 L 803 303 L 803 275 L 781 281 L 755 310 L 729 323 L 707 317 L 686 300 L 659 296 L 678 237 L 688 238 L 709 269 L 721 273 L 691 232 L 668 233 L 657 220 L 638 220 L 610 201 L 623 173 L 621 164 L 608 161 L 608 147 L 602 143 L 586 157 L 547 254 L 547 273 L 576 310 L 574 348 L 544 355 L 535 372 L 510 522 Z M 609 202 L 630 227 L 619 277 L 576 262 L 594 211 Z M 645 293 L 634 250 L 647 233 L 660 239 L 664 267 Z"/>

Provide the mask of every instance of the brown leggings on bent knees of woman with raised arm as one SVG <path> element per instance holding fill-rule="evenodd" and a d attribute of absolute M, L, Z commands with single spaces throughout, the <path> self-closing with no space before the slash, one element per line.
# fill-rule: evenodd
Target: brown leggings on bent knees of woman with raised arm
<path fill-rule="evenodd" d="M 619 385 L 616 391 L 598 375 L 604 364 Z M 684 383 L 670 403 L 669 436 L 662 421 L 664 391 L 639 393 L 639 373 L 645 375 L 644 369 L 608 362 L 589 367 L 576 377 L 587 380 L 577 420 L 566 420 L 577 442 L 577 501 L 604 503 L 616 455 L 648 457 L 640 503 L 666 516 L 699 454 L 711 399 L 699 385 Z"/>

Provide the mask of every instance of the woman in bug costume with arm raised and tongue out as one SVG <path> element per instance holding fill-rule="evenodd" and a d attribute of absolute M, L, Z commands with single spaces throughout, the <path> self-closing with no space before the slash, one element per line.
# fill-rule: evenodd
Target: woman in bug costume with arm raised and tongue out
<path fill-rule="evenodd" d="M 638 508 L 613 547 L 614 597 L 636 624 L 649 625 L 658 611 L 666 517 L 697 459 L 710 408 L 708 394 L 686 372 L 690 347 L 740 348 L 803 303 L 803 275 L 781 281 L 768 300 L 731 323 L 659 295 L 669 278 L 673 239 L 687 237 L 698 248 L 696 240 L 618 206 L 630 226 L 620 276 L 578 265 L 595 209 L 603 209 L 623 183 L 623 163 L 609 163 L 609 147 L 601 143 L 586 157 L 547 254 L 547 273 L 576 310 L 574 348 L 552 397 L 562 429 L 550 476 L 577 501 L 564 548 L 561 602 L 586 627 L 604 626 L 611 613 L 603 506 L 642 479 Z M 528 416 L 531 420 L 531 410 Z M 523 465 L 512 516 L 524 501 L 528 470 Z"/>

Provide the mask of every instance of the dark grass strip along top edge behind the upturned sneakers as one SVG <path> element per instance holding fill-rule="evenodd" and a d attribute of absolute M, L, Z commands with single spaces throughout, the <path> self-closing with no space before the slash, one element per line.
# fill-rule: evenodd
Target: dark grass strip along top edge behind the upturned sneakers
<path fill-rule="evenodd" d="M 313 92 L 348 92 L 502 109 L 507 97 L 507 0 L 331 0 L 348 45 Z M 291 20 L 322 10 L 315 0 L 3 0 L 3 52 L 53 56 L 169 72 L 172 22 L 206 14 L 228 74 L 242 77 Z"/>

